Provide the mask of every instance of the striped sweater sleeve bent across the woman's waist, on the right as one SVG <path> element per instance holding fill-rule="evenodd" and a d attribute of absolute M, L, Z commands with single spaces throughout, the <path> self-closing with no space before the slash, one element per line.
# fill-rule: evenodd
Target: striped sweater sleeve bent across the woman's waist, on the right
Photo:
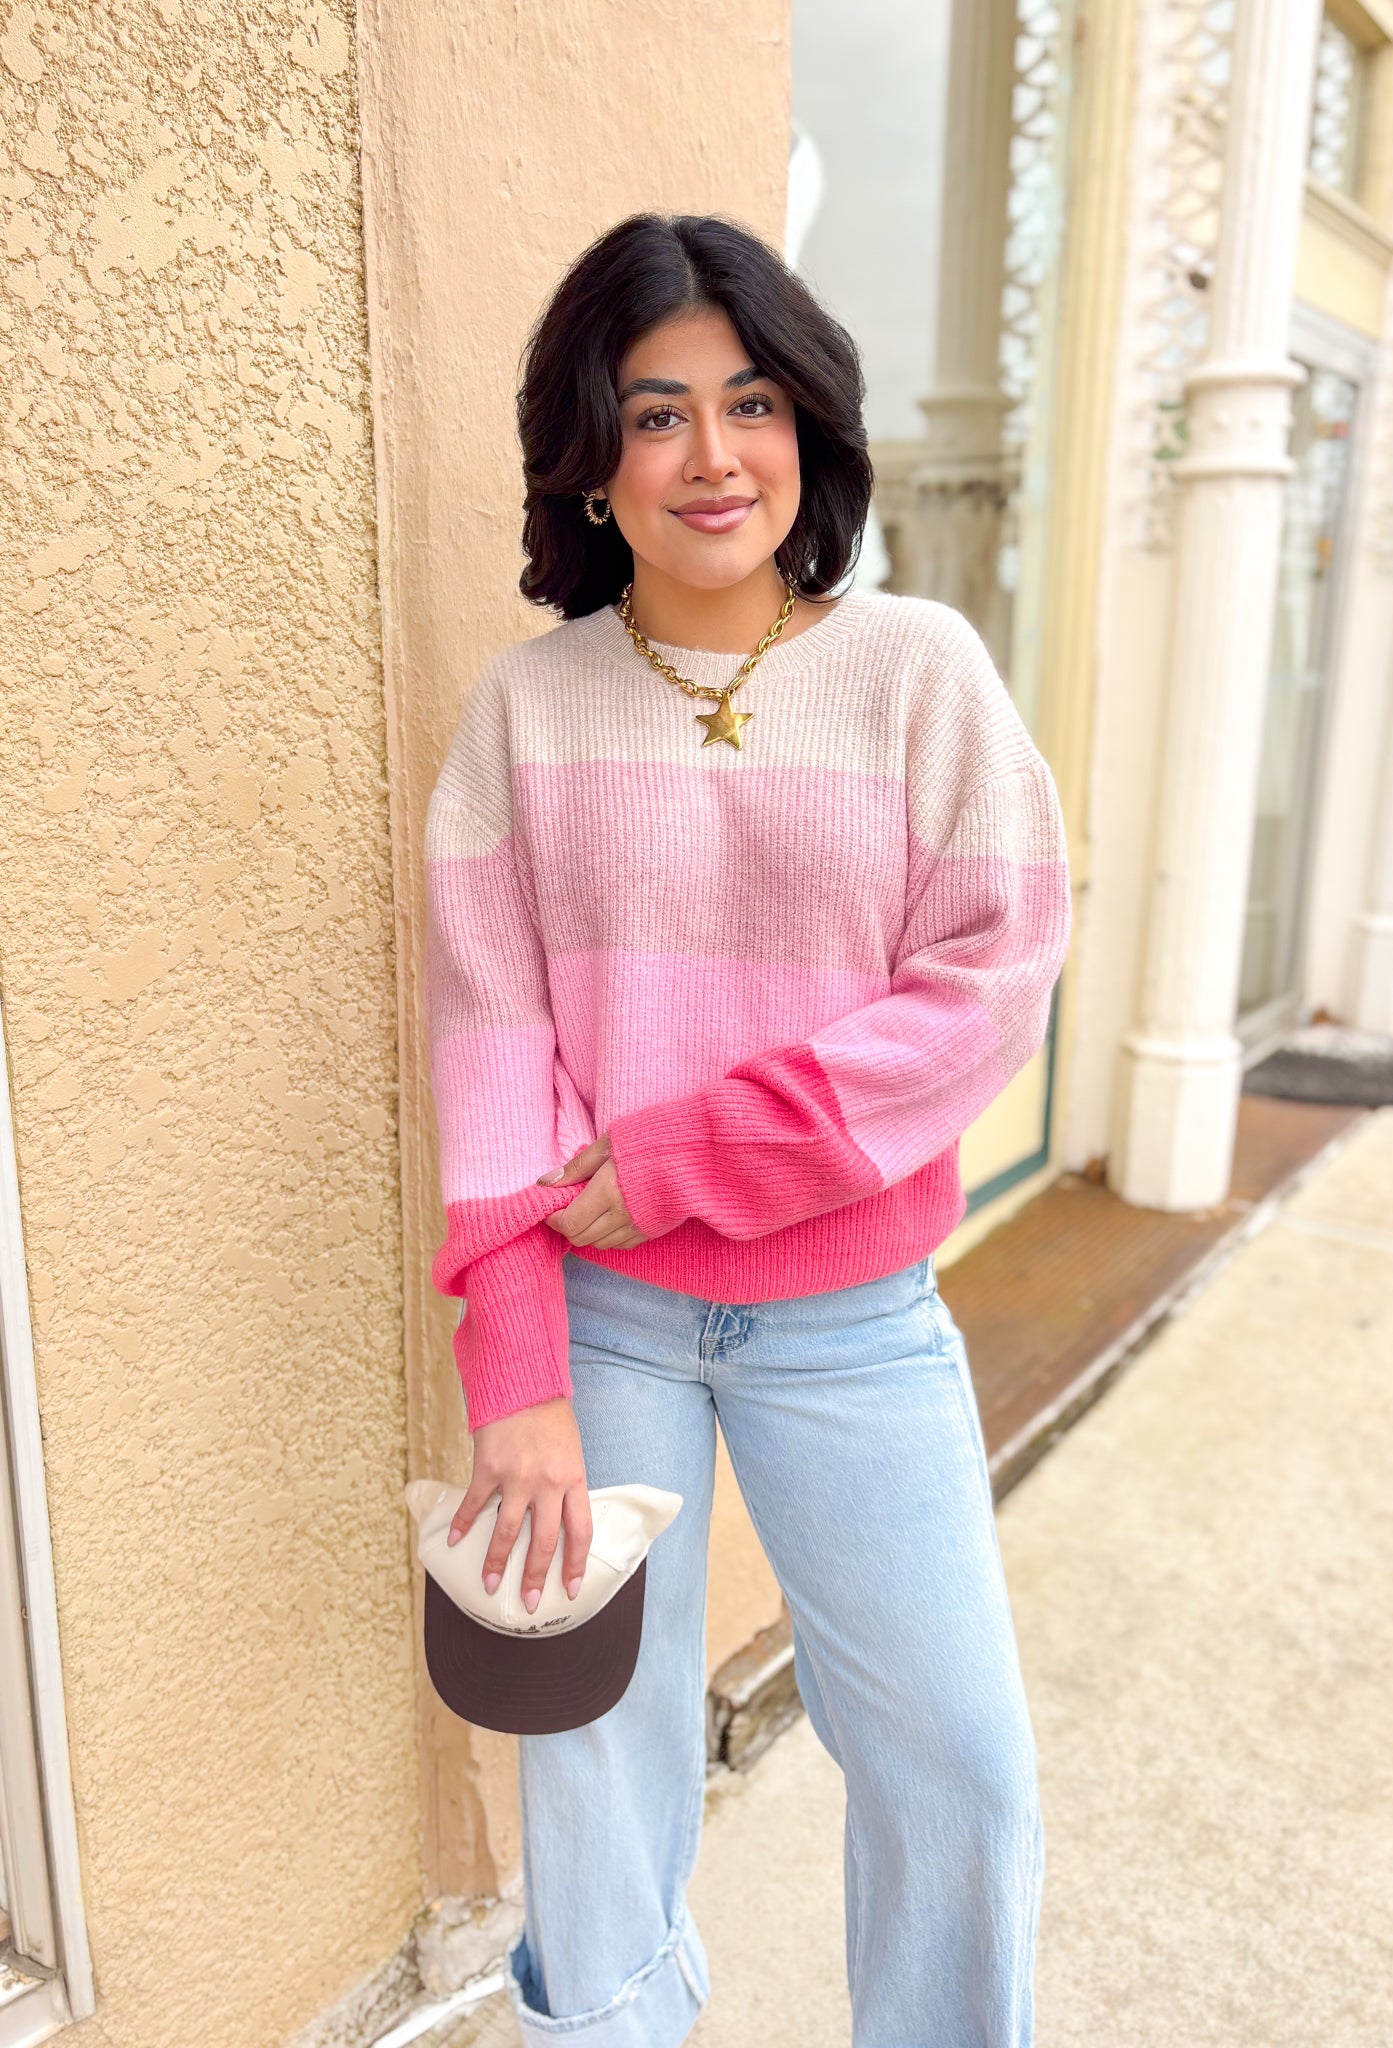
<path fill-rule="evenodd" d="M 879 1194 L 953 1145 L 1041 1047 L 1071 920 L 1059 799 L 957 612 L 948 645 L 969 709 L 957 723 L 907 717 L 905 924 L 889 991 L 613 1118 L 615 1171 L 645 1237 L 692 1217 L 762 1237 Z"/>

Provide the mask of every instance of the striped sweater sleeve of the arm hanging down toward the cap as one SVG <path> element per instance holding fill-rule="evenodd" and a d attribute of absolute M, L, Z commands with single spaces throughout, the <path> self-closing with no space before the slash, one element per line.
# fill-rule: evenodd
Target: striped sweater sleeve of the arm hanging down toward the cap
<path fill-rule="evenodd" d="M 447 1214 L 432 1280 L 465 1298 L 455 1362 L 477 1430 L 572 1391 L 567 1247 L 545 1219 L 580 1190 L 535 1180 L 594 1135 L 557 1073 L 496 664 L 465 705 L 426 817 L 426 1018 Z"/>

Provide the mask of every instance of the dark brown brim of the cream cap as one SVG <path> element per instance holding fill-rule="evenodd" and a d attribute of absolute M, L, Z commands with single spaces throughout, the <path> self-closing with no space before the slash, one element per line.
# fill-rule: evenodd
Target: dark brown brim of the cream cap
<path fill-rule="evenodd" d="M 426 1573 L 426 1669 L 461 1720 L 500 1735 L 559 1735 L 608 1714 L 639 1661 L 647 1559 L 580 1628 L 512 1636 L 465 1614 Z"/>

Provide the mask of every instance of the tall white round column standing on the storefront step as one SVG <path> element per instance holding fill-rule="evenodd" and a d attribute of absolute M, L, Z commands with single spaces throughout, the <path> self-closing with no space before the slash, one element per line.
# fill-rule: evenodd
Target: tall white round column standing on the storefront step
<path fill-rule="evenodd" d="M 1291 471 L 1286 356 L 1319 0 L 1239 0 L 1205 360 L 1186 381 L 1166 752 L 1141 1022 L 1108 1178 L 1149 1208 L 1229 1190 L 1233 1034 L 1272 604 Z"/>

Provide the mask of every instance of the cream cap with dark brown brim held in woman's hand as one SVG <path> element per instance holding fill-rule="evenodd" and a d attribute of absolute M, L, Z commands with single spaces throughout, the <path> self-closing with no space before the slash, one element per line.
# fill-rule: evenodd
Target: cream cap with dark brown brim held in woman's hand
<path fill-rule="evenodd" d="M 590 1487 L 590 1554 L 576 1599 L 561 1583 L 557 1538 L 537 1612 L 522 1606 L 533 1536 L 522 1516 L 496 1589 L 483 1559 L 502 1507 L 496 1493 L 457 1544 L 449 1530 L 465 1487 L 414 1479 L 416 1556 L 426 1569 L 426 1669 L 451 1712 L 502 1735 L 557 1735 L 606 1714 L 633 1677 L 643 1632 L 647 1552 L 682 1505 L 664 1487 Z"/>

